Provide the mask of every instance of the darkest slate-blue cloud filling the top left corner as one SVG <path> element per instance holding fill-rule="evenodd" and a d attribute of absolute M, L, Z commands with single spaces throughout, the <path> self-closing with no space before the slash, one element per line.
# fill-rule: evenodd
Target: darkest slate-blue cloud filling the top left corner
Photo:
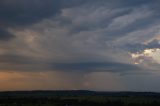
<path fill-rule="evenodd" d="M 77 0 L 79 2 L 79 0 Z M 80 2 L 79 2 L 80 3 Z M 26 25 L 49 18 L 75 4 L 72 0 L 1 0 L 0 20 L 4 25 Z"/>

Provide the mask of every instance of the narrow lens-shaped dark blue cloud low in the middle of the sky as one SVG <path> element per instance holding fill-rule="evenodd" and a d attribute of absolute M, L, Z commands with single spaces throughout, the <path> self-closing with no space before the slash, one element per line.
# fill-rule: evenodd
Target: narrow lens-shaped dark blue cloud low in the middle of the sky
<path fill-rule="evenodd" d="M 125 63 L 118 62 L 88 62 L 88 63 L 54 63 L 52 65 L 53 69 L 63 70 L 63 71 L 106 71 L 106 72 L 125 72 L 125 71 L 136 71 L 140 68 Z"/>

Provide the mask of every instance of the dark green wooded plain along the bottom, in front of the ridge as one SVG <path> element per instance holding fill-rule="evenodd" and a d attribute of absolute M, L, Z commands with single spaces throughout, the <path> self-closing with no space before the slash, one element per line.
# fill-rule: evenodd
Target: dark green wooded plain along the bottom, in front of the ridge
<path fill-rule="evenodd" d="M 154 97 L 0 97 L 0 106 L 160 106 Z"/>

